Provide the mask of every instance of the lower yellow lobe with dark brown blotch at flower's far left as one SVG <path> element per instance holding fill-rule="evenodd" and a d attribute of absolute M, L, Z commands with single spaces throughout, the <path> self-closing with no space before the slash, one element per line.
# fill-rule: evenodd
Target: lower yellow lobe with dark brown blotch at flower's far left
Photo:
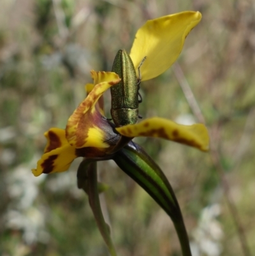
<path fill-rule="evenodd" d="M 68 170 L 73 160 L 77 158 L 75 150 L 75 147 L 65 144 L 43 154 L 37 162 L 36 169 L 32 169 L 34 176 L 40 176 L 42 173 L 49 174 Z"/>

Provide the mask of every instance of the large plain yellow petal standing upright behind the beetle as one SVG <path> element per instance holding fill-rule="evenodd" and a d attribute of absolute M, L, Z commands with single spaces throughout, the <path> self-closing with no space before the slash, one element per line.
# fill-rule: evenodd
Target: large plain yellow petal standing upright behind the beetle
<path fill-rule="evenodd" d="M 142 80 L 157 77 L 173 64 L 179 56 L 187 34 L 201 20 L 199 11 L 184 11 L 159 19 L 148 20 L 138 29 L 130 57 L 138 75 L 138 66 L 143 57 L 140 71 Z"/>

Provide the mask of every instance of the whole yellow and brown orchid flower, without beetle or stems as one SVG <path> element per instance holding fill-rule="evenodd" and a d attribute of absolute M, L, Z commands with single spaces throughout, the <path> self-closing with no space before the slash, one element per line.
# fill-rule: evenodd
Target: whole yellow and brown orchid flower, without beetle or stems
<path fill-rule="evenodd" d="M 179 56 L 187 34 L 201 20 L 201 13 L 184 11 L 149 20 L 138 29 L 130 57 L 138 74 L 142 59 L 147 59 L 140 67 L 142 80 L 157 77 L 170 68 Z M 45 133 L 47 146 L 34 176 L 41 173 L 63 172 L 79 156 L 85 158 L 109 159 L 115 153 L 120 137 L 161 137 L 182 144 L 208 150 L 209 137 L 203 124 L 185 126 L 167 119 L 152 117 L 138 124 L 128 124 L 118 128 L 103 115 L 101 96 L 106 89 L 120 82 L 112 72 L 91 72 L 94 86 L 88 85 L 89 92 L 69 117 L 66 130 L 51 128 Z M 122 135 L 122 136 L 121 136 Z"/>

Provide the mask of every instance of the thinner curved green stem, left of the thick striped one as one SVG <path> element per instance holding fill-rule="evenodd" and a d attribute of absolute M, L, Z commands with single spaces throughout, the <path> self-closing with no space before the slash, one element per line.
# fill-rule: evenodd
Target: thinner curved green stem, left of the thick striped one
<path fill-rule="evenodd" d="M 96 162 L 92 162 L 89 164 L 89 168 L 87 169 L 87 181 L 88 181 L 88 195 L 89 195 L 89 204 L 91 205 L 91 209 L 93 211 L 94 217 L 96 219 L 96 223 L 98 224 L 99 231 L 105 240 L 106 245 L 108 246 L 108 250 L 110 255 L 117 256 L 115 252 L 115 248 L 112 243 L 112 239 L 110 236 L 110 228 L 105 222 L 103 217 L 103 213 L 100 206 L 99 195 L 98 195 L 98 174 L 96 168 Z"/>

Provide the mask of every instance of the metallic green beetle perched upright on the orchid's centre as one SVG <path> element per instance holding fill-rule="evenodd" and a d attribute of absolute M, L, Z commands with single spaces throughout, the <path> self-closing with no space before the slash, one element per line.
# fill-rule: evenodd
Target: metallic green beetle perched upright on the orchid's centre
<path fill-rule="evenodd" d="M 138 93 L 140 79 L 126 50 L 119 50 L 113 61 L 112 72 L 119 75 L 119 84 L 111 87 L 112 119 L 115 125 L 135 124 L 138 120 Z"/>

